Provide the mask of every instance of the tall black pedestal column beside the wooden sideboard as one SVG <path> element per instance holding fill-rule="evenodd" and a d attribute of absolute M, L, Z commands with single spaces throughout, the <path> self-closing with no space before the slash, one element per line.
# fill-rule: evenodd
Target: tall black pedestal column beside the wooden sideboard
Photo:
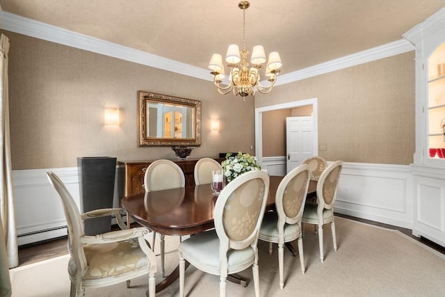
<path fill-rule="evenodd" d="M 116 158 L 109 156 L 78 157 L 81 213 L 112 208 Z M 86 235 L 111 231 L 111 216 L 84 220 Z"/>

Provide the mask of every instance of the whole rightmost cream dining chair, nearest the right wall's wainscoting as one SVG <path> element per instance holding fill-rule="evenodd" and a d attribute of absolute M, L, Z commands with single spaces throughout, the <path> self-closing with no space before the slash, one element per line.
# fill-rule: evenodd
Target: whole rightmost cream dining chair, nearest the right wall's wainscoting
<path fill-rule="evenodd" d="M 317 184 L 317 203 L 306 203 L 303 211 L 302 223 L 318 226 L 318 245 L 320 248 L 321 262 L 324 260 L 323 253 L 323 225 L 331 223 L 332 242 L 334 250 L 337 251 L 337 239 L 335 238 L 334 202 L 337 198 L 337 184 L 339 182 L 342 161 L 335 161 L 328 166 L 320 175 Z"/>

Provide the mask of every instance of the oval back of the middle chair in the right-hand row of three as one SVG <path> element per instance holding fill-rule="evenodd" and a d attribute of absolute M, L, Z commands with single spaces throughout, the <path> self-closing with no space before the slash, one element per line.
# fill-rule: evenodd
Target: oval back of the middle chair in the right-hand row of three
<path fill-rule="evenodd" d="M 300 222 L 306 202 L 310 174 L 309 165 L 302 164 L 293 168 L 278 185 L 275 206 L 279 225 Z"/>

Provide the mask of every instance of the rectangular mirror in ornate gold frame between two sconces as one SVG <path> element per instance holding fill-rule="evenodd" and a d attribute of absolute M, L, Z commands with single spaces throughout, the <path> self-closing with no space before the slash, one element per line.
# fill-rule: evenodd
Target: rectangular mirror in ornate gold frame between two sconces
<path fill-rule="evenodd" d="M 139 146 L 200 146 L 201 102 L 138 91 Z"/>

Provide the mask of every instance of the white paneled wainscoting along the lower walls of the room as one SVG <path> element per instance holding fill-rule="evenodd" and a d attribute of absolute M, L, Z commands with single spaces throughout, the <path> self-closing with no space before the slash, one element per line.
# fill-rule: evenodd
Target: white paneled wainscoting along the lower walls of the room
<path fill-rule="evenodd" d="M 284 156 L 263 159 L 269 175 L 284 175 Z M 113 207 L 120 202 L 119 175 L 116 169 Z M 62 179 L 80 207 L 77 168 L 14 170 L 15 209 L 19 245 L 66 235 L 65 215 L 58 194 L 45 172 L 53 171 Z M 414 212 L 410 166 L 369 163 L 345 163 L 337 191 L 335 211 L 412 229 Z"/>

